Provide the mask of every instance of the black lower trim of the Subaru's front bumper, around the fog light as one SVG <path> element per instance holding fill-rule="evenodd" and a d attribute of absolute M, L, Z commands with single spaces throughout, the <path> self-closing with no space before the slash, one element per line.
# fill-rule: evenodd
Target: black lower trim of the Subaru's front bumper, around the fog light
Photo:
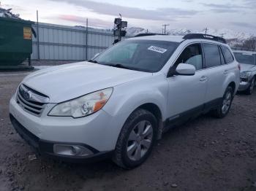
<path fill-rule="evenodd" d="M 108 157 L 111 157 L 113 151 L 109 152 L 99 152 L 97 149 L 87 145 L 87 144 L 80 144 L 80 143 L 68 143 L 68 142 L 56 142 L 56 141 L 45 141 L 39 139 L 29 130 L 23 127 L 23 125 L 18 122 L 18 120 L 10 114 L 10 120 L 12 122 L 13 127 L 18 132 L 18 134 L 40 155 L 47 155 L 53 158 L 57 158 L 66 162 L 71 163 L 84 163 L 84 162 L 95 162 L 97 160 L 104 160 Z M 53 151 L 53 146 L 56 144 L 61 145 L 80 145 L 82 147 L 86 147 L 92 153 L 92 155 L 87 156 L 67 156 L 67 155 L 58 155 Z"/>

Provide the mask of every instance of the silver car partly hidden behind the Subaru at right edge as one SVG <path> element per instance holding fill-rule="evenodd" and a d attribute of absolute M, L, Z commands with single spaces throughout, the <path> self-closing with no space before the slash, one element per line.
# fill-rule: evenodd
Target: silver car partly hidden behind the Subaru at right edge
<path fill-rule="evenodd" d="M 241 64 L 240 85 L 238 91 L 250 95 L 256 82 L 256 52 L 233 50 L 236 60 Z"/>

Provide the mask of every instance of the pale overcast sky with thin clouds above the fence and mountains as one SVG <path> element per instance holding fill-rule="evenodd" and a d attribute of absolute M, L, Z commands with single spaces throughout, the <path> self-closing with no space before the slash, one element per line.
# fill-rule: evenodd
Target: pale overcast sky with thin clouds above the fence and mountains
<path fill-rule="evenodd" d="M 256 0 L 0 0 L 1 7 L 12 8 L 26 20 L 112 28 L 113 19 L 121 13 L 129 27 L 162 31 L 169 28 L 203 28 L 243 31 L 256 34 Z"/>

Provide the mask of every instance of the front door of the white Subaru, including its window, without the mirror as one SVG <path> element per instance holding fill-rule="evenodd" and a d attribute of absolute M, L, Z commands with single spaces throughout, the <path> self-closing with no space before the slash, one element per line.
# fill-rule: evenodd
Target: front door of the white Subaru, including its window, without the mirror
<path fill-rule="evenodd" d="M 203 71 L 201 44 L 189 44 L 185 47 L 172 67 L 176 69 L 179 63 L 192 64 L 196 71 L 193 76 L 175 75 L 167 78 L 169 120 L 201 111 L 205 101 L 207 80 Z"/>

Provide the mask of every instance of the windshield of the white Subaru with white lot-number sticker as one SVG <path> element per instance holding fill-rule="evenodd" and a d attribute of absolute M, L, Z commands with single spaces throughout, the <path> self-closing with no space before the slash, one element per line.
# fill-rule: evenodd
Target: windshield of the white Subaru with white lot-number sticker
<path fill-rule="evenodd" d="M 156 40 L 125 40 L 105 50 L 93 61 L 124 69 L 156 72 L 162 69 L 178 44 Z"/>

